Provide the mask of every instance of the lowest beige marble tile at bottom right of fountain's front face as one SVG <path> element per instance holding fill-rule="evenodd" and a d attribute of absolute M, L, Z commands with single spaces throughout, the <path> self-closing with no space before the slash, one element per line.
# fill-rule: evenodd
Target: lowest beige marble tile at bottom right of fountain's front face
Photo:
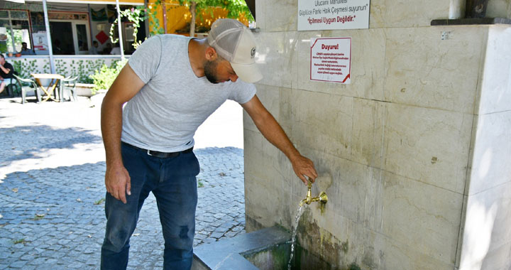
<path fill-rule="evenodd" d="M 423 256 L 454 264 L 463 195 L 392 173 L 383 179 L 382 233 L 402 244 L 417 243 L 410 249 Z"/>

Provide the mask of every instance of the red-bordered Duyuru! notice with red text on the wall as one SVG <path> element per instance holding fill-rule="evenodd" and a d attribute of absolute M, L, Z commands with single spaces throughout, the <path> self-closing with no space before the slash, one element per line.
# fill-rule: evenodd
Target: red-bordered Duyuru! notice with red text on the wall
<path fill-rule="evenodd" d="M 310 80 L 351 82 L 351 38 L 311 38 Z"/>

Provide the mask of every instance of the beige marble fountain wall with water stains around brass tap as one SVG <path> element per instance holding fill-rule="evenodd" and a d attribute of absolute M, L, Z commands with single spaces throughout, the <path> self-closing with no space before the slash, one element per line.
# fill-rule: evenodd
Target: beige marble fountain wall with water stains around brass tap
<path fill-rule="evenodd" d="M 299 241 L 339 268 L 511 267 L 511 27 L 430 26 L 463 2 L 373 0 L 370 28 L 345 31 L 297 31 L 297 0 L 255 2 L 258 97 L 329 195 Z M 350 85 L 309 80 L 318 37 L 352 38 Z M 307 189 L 244 124 L 247 231 L 291 229 Z"/>

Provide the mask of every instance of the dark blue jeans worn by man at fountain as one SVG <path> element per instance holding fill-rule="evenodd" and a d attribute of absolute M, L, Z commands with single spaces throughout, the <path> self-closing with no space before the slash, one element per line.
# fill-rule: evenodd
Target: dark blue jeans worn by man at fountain
<path fill-rule="evenodd" d="M 150 192 L 158 204 L 165 239 L 163 269 L 190 269 L 197 207 L 195 176 L 199 174 L 199 161 L 193 152 L 180 153 L 173 158 L 156 158 L 124 144 L 121 153 L 131 178 L 131 195 L 126 195 L 124 204 L 106 193 L 106 234 L 101 247 L 101 269 L 126 269 L 129 239 Z"/>

